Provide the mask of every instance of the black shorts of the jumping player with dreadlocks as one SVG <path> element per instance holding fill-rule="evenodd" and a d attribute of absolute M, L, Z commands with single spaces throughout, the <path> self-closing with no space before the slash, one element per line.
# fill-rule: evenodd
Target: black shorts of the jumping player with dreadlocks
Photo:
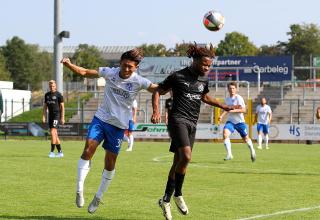
<path fill-rule="evenodd" d="M 175 153 L 180 147 L 193 147 L 197 131 L 196 124 L 184 120 L 175 120 L 169 122 L 168 128 L 171 137 L 170 152 Z"/>

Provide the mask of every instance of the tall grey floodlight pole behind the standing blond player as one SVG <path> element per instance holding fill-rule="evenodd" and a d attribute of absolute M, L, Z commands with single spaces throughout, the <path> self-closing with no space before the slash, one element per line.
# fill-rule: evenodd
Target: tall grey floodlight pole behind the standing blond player
<path fill-rule="evenodd" d="M 69 31 L 60 32 L 60 20 L 61 20 L 61 0 L 54 0 L 54 43 L 53 43 L 53 71 L 54 79 L 57 83 L 57 90 L 63 94 L 63 66 L 60 61 L 62 60 L 62 38 L 69 38 Z"/>

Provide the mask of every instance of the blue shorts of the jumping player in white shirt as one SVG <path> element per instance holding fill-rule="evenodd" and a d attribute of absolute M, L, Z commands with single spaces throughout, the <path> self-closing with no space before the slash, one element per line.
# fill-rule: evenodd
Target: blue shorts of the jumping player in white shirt
<path fill-rule="evenodd" d="M 93 117 L 89 126 L 87 139 L 95 140 L 99 144 L 104 140 L 102 147 L 105 150 L 119 154 L 123 135 L 124 129 L 103 122 L 97 117 Z"/>

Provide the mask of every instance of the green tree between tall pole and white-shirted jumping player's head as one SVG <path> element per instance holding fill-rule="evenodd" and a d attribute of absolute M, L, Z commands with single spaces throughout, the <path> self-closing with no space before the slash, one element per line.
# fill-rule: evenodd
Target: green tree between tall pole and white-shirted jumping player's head
<path fill-rule="evenodd" d="M 88 44 L 79 44 L 78 49 L 72 56 L 72 60 L 79 66 L 88 69 L 97 69 L 99 66 L 103 66 L 103 58 L 100 51 L 95 46 L 89 46 Z M 82 81 L 83 78 L 72 73 L 67 68 L 64 69 L 65 79 L 71 81 Z"/>

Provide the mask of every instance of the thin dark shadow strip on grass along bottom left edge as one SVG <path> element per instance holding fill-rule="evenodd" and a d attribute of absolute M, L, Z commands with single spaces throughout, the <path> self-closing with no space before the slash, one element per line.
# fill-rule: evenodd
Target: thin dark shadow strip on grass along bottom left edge
<path fill-rule="evenodd" d="M 14 216 L 14 215 L 0 215 L 0 219 L 26 219 L 26 220 L 129 220 L 129 218 L 102 218 L 96 216 L 84 217 L 84 216 L 73 216 L 73 217 L 58 217 L 58 216 Z M 131 219 L 132 220 L 132 219 Z"/>

